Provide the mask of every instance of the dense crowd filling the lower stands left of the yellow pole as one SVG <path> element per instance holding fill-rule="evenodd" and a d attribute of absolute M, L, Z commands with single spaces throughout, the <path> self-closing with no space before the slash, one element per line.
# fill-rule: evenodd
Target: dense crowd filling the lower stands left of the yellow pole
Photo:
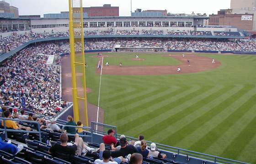
<path fill-rule="evenodd" d="M 46 55 L 59 56 L 64 52 L 66 50 L 60 45 L 42 43 L 23 49 L 2 62 L 0 105 L 27 108 L 44 115 L 58 113 L 64 103 L 60 95 L 60 68 L 46 65 Z"/>

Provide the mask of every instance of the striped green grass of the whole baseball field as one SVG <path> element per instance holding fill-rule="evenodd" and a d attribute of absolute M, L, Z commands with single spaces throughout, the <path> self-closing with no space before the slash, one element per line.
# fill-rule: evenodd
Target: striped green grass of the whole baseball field
<path fill-rule="evenodd" d="M 86 55 L 86 83 L 92 89 L 88 101 L 97 104 L 98 58 L 92 55 L 96 54 Z M 256 163 L 256 56 L 202 56 L 214 57 L 222 66 L 179 75 L 103 75 L 100 107 L 104 123 L 117 126 L 120 134 L 136 138 L 143 134 L 157 143 Z M 159 62 L 160 55 L 139 57 L 150 61 L 149 65 L 166 63 L 166 58 Z M 122 62 L 144 65 L 131 58 L 134 54 Z M 171 59 L 168 63 L 178 64 Z"/>

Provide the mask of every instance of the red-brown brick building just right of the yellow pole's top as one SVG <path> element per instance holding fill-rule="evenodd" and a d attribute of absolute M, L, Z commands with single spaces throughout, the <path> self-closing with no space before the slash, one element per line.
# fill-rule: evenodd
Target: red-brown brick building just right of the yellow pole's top
<path fill-rule="evenodd" d="M 83 7 L 83 12 L 91 16 L 119 16 L 119 7 L 103 5 L 103 7 Z"/>

